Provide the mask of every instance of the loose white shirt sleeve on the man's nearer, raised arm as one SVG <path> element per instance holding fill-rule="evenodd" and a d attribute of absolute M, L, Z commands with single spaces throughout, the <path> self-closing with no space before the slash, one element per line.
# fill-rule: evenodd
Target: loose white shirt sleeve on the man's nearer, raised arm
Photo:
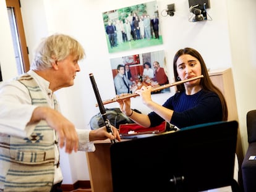
<path fill-rule="evenodd" d="M 0 89 L 0 133 L 7 135 L 27 137 L 35 125 L 27 127 L 33 111 L 37 106 L 29 104 L 27 89 L 20 88 L 20 83 L 12 81 L 1 85 Z"/>

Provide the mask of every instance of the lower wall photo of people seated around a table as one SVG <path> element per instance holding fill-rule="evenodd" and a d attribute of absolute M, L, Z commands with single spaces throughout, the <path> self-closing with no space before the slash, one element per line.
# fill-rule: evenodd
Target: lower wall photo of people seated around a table
<path fill-rule="evenodd" d="M 147 52 L 111 59 L 116 94 L 134 93 L 142 86 L 158 88 L 169 83 L 164 51 Z M 169 92 L 169 88 L 152 94 Z"/>

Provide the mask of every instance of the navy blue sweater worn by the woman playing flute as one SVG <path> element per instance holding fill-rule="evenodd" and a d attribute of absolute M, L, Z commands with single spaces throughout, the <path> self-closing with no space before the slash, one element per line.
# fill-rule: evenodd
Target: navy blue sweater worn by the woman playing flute
<path fill-rule="evenodd" d="M 218 122 L 222 120 L 220 98 L 216 93 L 200 90 L 198 93 L 187 95 L 185 92 L 176 93 L 163 104 L 174 111 L 170 123 L 178 128 L 201 123 Z M 164 121 L 155 112 L 148 114 L 151 127 Z"/>

